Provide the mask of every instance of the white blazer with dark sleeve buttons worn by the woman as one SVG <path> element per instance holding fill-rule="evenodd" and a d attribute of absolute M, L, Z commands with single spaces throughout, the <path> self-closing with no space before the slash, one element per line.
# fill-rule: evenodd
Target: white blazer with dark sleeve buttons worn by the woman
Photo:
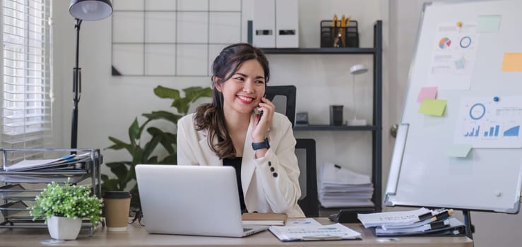
<path fill-rule="evenodd" d="M 194 114 L 179 119 L 177 163 L 223 166 L 223 160 L 210 149 L 207 135 L 208 130 L 196 131 Z M 301 188 L 299 188 L 299 167 L 295 156 L 295 138 L 292 123 L 285 115 L 274 113 L 272 126 L 268 131 L 268 141 L 270 148 L 265 157 L 256 159 L 251 146 L 251 126 L 249 126 L 244 140 L 241 163 L 241 183 L 247 210 L 286 213 L 288 217 L 304 217 L 304 213 L 297 205 Z"/>

